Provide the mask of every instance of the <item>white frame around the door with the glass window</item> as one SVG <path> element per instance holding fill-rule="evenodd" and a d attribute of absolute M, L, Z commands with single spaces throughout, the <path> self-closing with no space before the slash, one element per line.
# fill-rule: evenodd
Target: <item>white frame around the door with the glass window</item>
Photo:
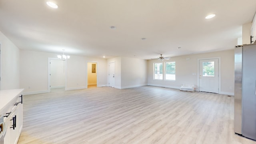
<path fill-rule="evenodd" d="M 200 60 L 211 60 L 211 59 L 218 59 L 218 74 L 219 74 L 219 78 L 218 78 L 218 94 L 221 93 L 221 58 L 220 57 L 213 57 L 213 58 L 198 58 L 197 59 L 197 85 L 198 88 L 197 90 L 199 91 L 200 88 L 200 82 L 199 82 L 199 76 L 200 76 Z"/>

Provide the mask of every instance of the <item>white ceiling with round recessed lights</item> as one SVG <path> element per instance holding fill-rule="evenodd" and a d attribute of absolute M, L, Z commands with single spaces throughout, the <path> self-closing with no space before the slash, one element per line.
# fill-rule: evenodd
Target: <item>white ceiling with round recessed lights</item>
<path fill-rule="evenodd" d="M 256 0 L 0 0 L 0 31 L 23 50 L 151 59 L 233 49 L 255 12 Z"/>

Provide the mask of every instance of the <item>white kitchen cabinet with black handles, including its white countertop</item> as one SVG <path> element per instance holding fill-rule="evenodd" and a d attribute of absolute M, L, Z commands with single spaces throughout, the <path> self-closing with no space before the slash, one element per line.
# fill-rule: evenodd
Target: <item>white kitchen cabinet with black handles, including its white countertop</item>
<path fill-rule="evenodd" d="M 0 90 L 0 114 L 6 124 L 4 144 L 17 144 L 22 130 L 23 89 Z"/>

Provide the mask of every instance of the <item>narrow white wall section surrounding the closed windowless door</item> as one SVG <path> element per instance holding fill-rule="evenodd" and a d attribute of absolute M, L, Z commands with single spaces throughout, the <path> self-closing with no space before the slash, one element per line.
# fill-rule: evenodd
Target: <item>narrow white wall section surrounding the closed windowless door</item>
<path fill-rule="evenodd" d="M 107 60 L 108 63 L 110 62 L 115 62 L 115 86 L 114 88 L 119 88 L 121 89 L 121 57 L 116 57 L 116 58 L 109 58 Z M 108 66 L 108 64 L 107 64 Z M 108 66 L 109 68 L 109 66 Z M 109 70 L 107 68 L 107 83 L 108 83 L 108 73 Z"/>

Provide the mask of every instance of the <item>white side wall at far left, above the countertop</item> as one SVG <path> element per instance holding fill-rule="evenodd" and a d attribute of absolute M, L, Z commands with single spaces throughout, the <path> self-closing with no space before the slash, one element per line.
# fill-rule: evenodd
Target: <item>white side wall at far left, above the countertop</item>
<path fill-rule="evenodd" d="M 0 90 L 20 88 L 20 50 L 2 32 L 1 44 L 1 83 Z"/>

